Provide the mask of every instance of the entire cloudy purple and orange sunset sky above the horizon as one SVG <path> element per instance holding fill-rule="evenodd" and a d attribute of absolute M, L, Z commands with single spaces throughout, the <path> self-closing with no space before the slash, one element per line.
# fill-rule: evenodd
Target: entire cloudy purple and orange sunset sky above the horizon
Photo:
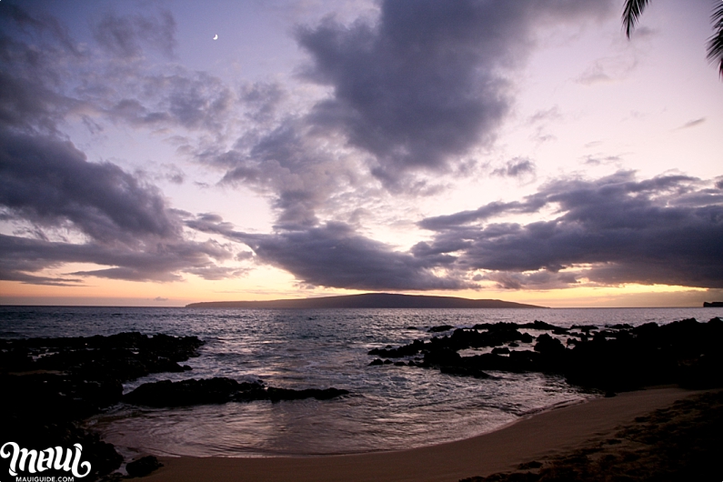
<path fill-rule="evenodd" d="M 0 304 L 723 300 L 718 0 L 0 1 Z"/>

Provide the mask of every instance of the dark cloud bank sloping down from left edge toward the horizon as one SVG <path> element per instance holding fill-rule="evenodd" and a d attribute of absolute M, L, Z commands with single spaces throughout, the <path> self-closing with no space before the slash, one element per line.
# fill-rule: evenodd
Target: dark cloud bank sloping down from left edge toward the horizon
<path fill-rule="evenodd" d="M 65 263 L 112 266 L 70 273 L 133 281 L 172 281 L 182 273 L 206 279 L 236 276 L 217 266 L 233 256 L 214 241 L 186 240 L 181 214 L 111 163 L 94 164 L 68 141 L 0 131 L 0 206 L 5 221 L 33 223 L 33 237 L 0 237 L 0 277 L 68 286 L 76 278 L 35 276 Z M 50 241 L 57 230 L 83 242 Z M 73 236 L 71 236 L 73 237 Z"/>

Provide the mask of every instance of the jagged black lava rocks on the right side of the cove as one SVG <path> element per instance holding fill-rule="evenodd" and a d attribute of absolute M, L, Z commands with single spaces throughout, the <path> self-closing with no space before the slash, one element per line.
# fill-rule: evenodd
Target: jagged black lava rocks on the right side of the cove
<path fill-rule="evenodd" d="M 520 329 L 551 332 L 533 338 Z M 566 343 L 560 341 L 565 337 Z M 374 348 L 370 365 L 382 358 L 415 357 L 409 366 L 437 368 L 450 375 L 486 377 L 484 370 L 545 372 L 563 375 L 571 384 L 608 393 L 638 387 L 679 384 L 723 387 L 723 321 L 698 323 L 694 318 L 658 326 L 627 324 L 563 328 L 541 321 L 480 324 L 457 328 L 451 336 L 415 340 L 404 346 Z M 535 342 L 534 346 L 532 345 Z M 517 343 L 519 342 L 519 343 Z M 524 349 L 527 344 L 533 349 Z M 505 346 L 506 345 L 506 346 Z M 460 356 L 467 348 L 493 347 L 491 353 Z M 397 364 L 395 364 L 397 365 Z"/>

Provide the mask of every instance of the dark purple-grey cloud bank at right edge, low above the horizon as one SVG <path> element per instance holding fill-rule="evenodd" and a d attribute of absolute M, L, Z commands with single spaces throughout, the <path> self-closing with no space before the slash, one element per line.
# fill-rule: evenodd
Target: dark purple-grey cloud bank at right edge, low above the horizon
<path fill-rule="evenodd" d="M 604 285 L 721 287 L 723 196 L 704 184 L 689 176 L 638 181 L 631 172 L 559 180 L 520 203 L 427 218 L 420 226 L 437 235 L 415 251 L 454 252 L 457 266 L 497 272 L 487 278 L 504 287 L 576 283 L 581 277 Z M 543 207 L 557 208 L 558 216 L 527 225 L 477 224 Z M 579 267 L 587 265 L 592 267 Z M 536 280 L 525 273 L 538 270 L 556 276 Z"/>

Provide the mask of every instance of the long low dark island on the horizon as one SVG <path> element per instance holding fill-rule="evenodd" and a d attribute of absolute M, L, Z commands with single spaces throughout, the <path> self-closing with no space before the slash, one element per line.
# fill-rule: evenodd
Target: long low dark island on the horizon
<path fill-rule="evenodd" d="M 191 303 L 186 308 L 545 308 L 499 299 L 469 299 L 455 296 L 395 295 L 365 293 L 362 295 L 322 296 L 269 301 L 206 301 Z"/>

